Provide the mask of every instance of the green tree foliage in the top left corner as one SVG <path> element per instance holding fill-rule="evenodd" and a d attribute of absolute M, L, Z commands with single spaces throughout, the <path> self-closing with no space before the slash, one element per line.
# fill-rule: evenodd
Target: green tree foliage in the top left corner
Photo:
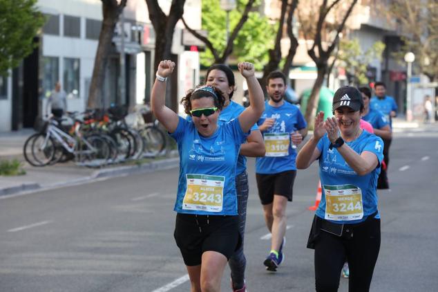
<path fill-rule="evenodd" d="M 0 0 L 0 75 L 19 65 L 35 48 L 33 38 L 44 24 L 37 0 Z"/>

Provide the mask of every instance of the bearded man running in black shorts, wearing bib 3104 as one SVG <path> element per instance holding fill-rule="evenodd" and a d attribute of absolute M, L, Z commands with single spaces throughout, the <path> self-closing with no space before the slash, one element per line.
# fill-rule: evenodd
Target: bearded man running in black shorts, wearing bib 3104
<path fill-rule="evenodd" d="M 301 111 L 284 100 L 286 87 L 283 73 L 269 73 L 266 86 L 269 100 L 257 122 L 266 148 L 265 157 L 256 158 L 256 179 L 266 225 L 272 233 L 271 250 L 264 262 L 268 271 L 276 271 L 285 258 L 286 206 L 287 201 L 292 201 L 296 176 L 295 148 L 307 134 Z"/>

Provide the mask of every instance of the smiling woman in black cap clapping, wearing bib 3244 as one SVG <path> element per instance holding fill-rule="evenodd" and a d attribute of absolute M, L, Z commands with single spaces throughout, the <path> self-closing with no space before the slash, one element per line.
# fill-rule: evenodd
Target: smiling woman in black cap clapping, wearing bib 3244
<path fill-rule="evenodd" d="M 316 291 L 337 291 L 345 258 L 349 291 L 369 291 L 380 249 L 377 177 L 383 141 L 360 128 L 363 98 L 343 86 L 333 98 L 334 117 L 315 118 L 314 136 L 296 158 L 304 170 L 319 161 L 323 188 L 307 248 L 313 248 Z"/>

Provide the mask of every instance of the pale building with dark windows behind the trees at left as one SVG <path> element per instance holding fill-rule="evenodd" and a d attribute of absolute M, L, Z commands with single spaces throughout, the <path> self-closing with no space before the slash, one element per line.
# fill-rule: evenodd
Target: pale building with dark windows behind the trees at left
<path fill-rule="evenodd" d="M 169 1 L 159 2 L 167 14 Z M 46 100 L 57 81 L 68 95 L 68 111 L 86 109 L 102 26 L 102 1 L 39 0 L 37 7 L 47 19 L 41 34 L 35 37 L 37 48 L 18 68 L 11 70 L 9 77 L 0 78 L 0 131 L 32 127 L 37 116 L 45 116 Z M 190 15 L 185 19 L 192 28 L 201 26 L 200 11 L 200 0 L 186 1 L 184 15 Z M 169 101 L 174 107 L 178 97 L 199 80 L 199 55 L 196 51 L 185 51 L 183 28 L 177 24 L 171 52 L 178 67 L 178 77 L 172 84 L 174 94 Z M 102 107 L 149 101 L 156 71 L 154 52 L 155 33 L 146 1 L 130 0 L 115 29 Z M 124 82 L 121 76 L 125 76 Z"/>

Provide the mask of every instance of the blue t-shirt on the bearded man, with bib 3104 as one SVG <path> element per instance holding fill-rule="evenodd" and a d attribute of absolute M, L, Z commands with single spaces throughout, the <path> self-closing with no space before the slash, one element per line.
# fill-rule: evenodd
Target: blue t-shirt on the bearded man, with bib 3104
<path fill-rule="evenodd" d="M 278 172 L 285 172 L 287 170 L 296 170 L 296 149 L 292 148 L 292 142 L 290 142 L 290 134 L 296 130 L 301 130 L 307 127 L 307 122 L 304 120 L 303 114 L 300 109 L 294 104 L 286 102 L 281 107 L 272 107 L 268 102 L 265 102 L 265 111 L 257 122 L 260 125 L 265 122 L 267 118 L 275 118 L 274 125 L 263 132 L 263 138 L 265 139 L 265 145 L 267 145 L 267 154 L 265 157 L 256 158 L 256 173 L 258 174 L 276 174 Z M 278 135 L 280 134 L 280 135 Z M 284 138 L 289 139 L 289 147 L 284 149 L 284 156 L 280 152 L 276 152 L 281 156 L 269 156 L 276 154 L 269 154 L 272 149 L 270 147 L 282 146 L 270 144 L 268 137 L 277 136 L 281 134 Z M 278 143 L 279 140 L 276 140 Z M 278 149 L 275 149 L 276 151 Z"/>

